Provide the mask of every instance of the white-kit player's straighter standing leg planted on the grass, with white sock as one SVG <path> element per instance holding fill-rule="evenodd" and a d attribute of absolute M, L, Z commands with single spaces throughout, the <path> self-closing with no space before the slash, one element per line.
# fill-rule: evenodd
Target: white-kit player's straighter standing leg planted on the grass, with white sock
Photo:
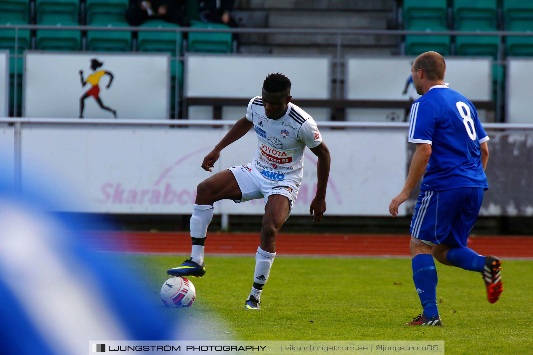
<path fill-rule="evenodd" d="M 259 300 L 263 286 L 270 275 L 276 257 L 276 237 L 290 211 L 289 199 L 284 195 L 270 195 L 265 205 L 261 226 L 261 245 L 255 254 L 255 271 L 252 291 L 245 302 L 245 309 L 260 309 Z"/>

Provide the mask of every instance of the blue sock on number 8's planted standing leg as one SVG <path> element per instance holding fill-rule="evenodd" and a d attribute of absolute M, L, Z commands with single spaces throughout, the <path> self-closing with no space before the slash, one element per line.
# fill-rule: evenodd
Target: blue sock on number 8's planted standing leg
<path fill-rule="evenodd" d="M 424 316 L 437 317 L 437 270 L 431 254 L 418 254 L 411 260 L 413 281 L 424 308 Z"/>

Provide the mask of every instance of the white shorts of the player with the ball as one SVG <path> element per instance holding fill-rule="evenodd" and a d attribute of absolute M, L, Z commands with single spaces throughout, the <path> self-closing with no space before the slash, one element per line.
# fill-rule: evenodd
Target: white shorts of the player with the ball
<path fill-rule="evenodd" d="M 287 214 L 287 218 L 289 218 L 298 194 L 298 187 L 294 181 L 266 179 L 257 169 L 253 168 L 252 163 L 228 168 L 228 170 L 235 176 L 240 192 L 243 194 L 240 200 L 233 200 L 234 202 L 239 203 L 263 197 L 266 205 L 270 195 L 283 195 L 289 199 L 289 213 Z"/>

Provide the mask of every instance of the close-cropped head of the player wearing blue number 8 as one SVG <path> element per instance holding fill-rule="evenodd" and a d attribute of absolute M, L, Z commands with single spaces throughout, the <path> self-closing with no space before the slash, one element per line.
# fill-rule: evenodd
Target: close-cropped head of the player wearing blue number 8
<path fill-rule="evenodd" d="M 416 92 L 424 95 L 432 86 L 443 83 L 446 63 L 439 53 L 425 52 L 416 57 L 411 71 Z"/>

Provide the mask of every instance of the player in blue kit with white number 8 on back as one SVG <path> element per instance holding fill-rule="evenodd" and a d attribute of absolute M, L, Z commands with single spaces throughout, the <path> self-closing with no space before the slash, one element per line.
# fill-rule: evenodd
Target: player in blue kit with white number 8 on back
<path fill-rule="evenodd" d="M 485 133 L 474 105 L 443 84 L 446 64 L 437 52 L 419 55 L 411 71 L 418 98 L 411 106 L 408 141 L 416 152 L 406 183 L 392 200 L 398 207 L 425 172 L 413 219 L 410 251 L 413 280 L 424 311 L 406 325 L 442 324 L 437 309 L 437 270 L 445 265 L 482 274 L 490 303 L 502 293 L 502 262 L 466 246 L 478 217 L 483 192 L 489 188 L 484 169 L 489 159 Z"/>

